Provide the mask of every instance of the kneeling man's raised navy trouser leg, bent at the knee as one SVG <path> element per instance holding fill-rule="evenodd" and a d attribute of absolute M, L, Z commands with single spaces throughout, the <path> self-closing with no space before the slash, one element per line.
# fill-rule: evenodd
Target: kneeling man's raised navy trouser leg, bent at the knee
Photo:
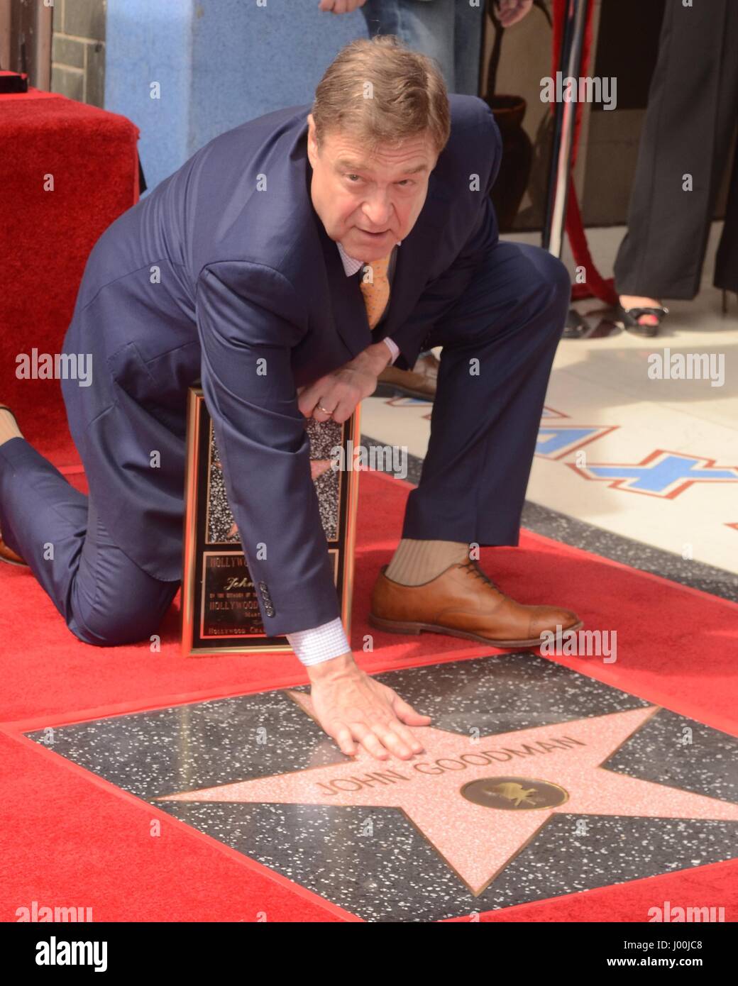
<path fill-rule="evenodd" d="M 570 291 L 566 268 L 550 253 L 498 243 L 429 333 L 430 345 L 443 352 L 428 452 L 407 499 L 403 537 L 518 543 Z"/>

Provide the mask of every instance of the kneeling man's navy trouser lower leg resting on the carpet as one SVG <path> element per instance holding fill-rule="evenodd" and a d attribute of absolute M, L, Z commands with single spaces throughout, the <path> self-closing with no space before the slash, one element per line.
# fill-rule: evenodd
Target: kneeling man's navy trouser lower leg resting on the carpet
<path fill-rule="evenodd" d="M 85 643 L 150 637 L 177 593 L 111 543 L 94 504 L 22 438 L 0 446 L 0 530 Z"/>

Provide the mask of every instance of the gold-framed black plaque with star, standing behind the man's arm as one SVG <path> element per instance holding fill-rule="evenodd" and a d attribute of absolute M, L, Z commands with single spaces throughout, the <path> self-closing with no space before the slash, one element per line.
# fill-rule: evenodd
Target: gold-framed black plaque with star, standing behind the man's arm
<path fill-rule="evenodd" d="M 350 464 L 358 445 L 358 417 L 357 408 L 343 424 L 305 420 L 313 482 L 346 636 L 350 636 L 358 495 L 358 473 Z M 347 468 L 333 467 L 339 448 Z M 187 396 L 184 490 L 184 656 L 291 653 L 286 637 L 270 637 L 264 632 L 201 387 L 190 387 Z"/>

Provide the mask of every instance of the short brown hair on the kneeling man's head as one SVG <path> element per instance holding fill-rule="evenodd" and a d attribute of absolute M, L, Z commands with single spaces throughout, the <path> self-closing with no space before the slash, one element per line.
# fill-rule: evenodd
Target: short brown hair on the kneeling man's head
<path fill-rule="evenodd" d="M 443 75 L 435 59 L 396 35 L 357 38 L 344 45 L 315 91 L 316 140 L 333 130 L 355 136 L 372 153 L 425 131 L 441 153 L 451 132 Z"/>

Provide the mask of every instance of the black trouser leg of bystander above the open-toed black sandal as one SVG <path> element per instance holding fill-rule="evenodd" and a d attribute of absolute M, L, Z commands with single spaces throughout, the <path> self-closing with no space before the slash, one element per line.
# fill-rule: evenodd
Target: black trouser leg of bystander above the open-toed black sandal
<path fill-rule="evenodd" d="M 667 0 L 648 94 L 619 294 L 694 298 L 738 111 L 738 4 Z M 683 176 L 693 190 L 683 190 Z"/>

